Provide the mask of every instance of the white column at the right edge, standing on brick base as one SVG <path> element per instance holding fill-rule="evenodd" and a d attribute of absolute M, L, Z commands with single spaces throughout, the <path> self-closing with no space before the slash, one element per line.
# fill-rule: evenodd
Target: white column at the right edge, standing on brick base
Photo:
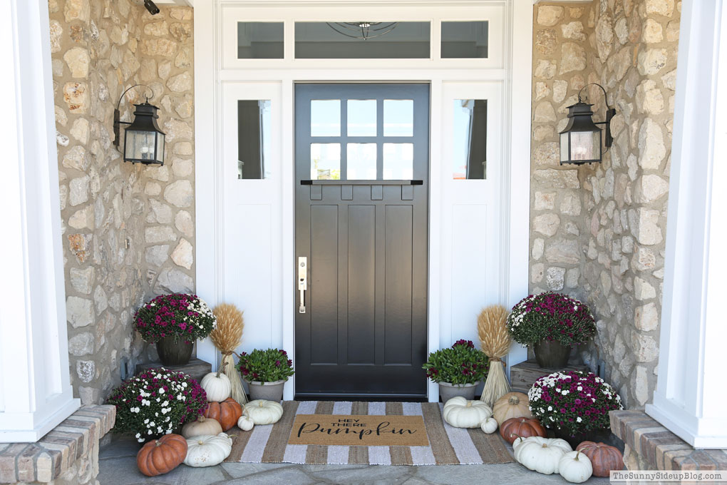
<path fill-rule="evenodd" d="M 695 448 L 727 448 L 726 87 L 727 6 L 685 1 L 659 377 L 646 413 Z"/>

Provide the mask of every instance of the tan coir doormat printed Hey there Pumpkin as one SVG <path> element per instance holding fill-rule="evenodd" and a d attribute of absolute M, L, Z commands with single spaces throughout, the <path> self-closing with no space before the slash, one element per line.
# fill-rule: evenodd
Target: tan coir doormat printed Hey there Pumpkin
<path fill-rule="evenodd" d="M 298 414 L 288 444 L 429 446 L 422 416 Z"/>

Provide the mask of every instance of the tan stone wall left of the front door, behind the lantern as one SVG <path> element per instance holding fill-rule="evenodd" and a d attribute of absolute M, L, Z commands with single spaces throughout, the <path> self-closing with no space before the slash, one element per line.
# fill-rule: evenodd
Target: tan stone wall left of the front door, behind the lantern
<path fill-rule="evenodd" d="M 194 289 L 193 10 L 152 16 L 139 3 L 49 0 L 68 348 L 84 404 L 103 401 L 126 361 L 154 357 L 134 334 L 139 305 Z M 140 83 L 161 108 L 164 167 L 124 163 L 112 144 L 113 108 Z M 122 120 L 147 92 L 127 93 Z"/>

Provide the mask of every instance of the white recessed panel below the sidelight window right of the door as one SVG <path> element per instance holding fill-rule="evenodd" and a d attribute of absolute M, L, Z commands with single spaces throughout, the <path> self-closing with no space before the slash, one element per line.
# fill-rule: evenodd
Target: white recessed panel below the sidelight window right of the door
<path fill-rule="evenodd" d="M 492 251 L 497 234 L 487 204 L 455 204 L 451 220 L 451 340 L 472 340 L 479 348 L 477 316 L 497 302 L 498 268 Z M 492 240 L 494 238 L 494 240 Z"/>

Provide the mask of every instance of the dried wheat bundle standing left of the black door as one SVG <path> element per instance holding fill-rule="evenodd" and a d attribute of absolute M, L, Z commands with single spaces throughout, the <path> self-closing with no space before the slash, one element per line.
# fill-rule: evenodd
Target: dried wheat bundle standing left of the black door
<path fill-rule="evenodd" d="M 243 406 L 247 403 L 247 396 L 233 358 L 233 351 L 240 345 L 242 329 L 245 326 L 242 312 L 235 305 L 222 303 L 214 308 L 214 316 L 217 317 L 217 326 L 209 334 L 209 338 L 222 353 L 222 362 L 217 372 L 222 372 L 230 379 L 232 398 Z"/>

